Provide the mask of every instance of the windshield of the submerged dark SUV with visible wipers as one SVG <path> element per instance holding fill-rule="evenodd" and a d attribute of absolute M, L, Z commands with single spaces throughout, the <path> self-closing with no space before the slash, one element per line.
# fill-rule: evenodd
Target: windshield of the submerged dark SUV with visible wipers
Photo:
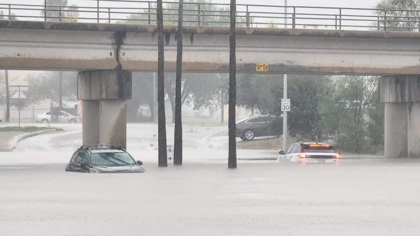
<path fill-rule="evenodd" d="M 134 165 L 133 158 L 126 152 L 101 152 L 92 153 L 93 166 L 126 166 Z"/>

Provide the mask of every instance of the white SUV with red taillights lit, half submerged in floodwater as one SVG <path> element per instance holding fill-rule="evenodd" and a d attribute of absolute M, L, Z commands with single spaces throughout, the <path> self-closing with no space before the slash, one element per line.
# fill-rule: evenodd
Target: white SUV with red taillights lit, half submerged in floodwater
<path fill-rule="evenodd" d="M 299 163 L 336 163 L 340 155 L 334 147 L 327 143 L 296 142 L 292 143 L 286 151 L 280 151 L 279 161 L 290 160 Z"/>

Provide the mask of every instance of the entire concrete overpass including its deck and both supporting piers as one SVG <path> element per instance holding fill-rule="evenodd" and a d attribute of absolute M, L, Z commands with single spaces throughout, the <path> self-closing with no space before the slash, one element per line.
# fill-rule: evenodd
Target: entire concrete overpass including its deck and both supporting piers
<path fill-rule="evenodd" d="M 176 29 L 165 27 L 165 69 L 176 61 Z M 185 27 L 183 69 L 227 72 L 229 29 Z M 237 69 L 255 73 L 381 75 L 385 155 L 420 157 L 420 34 L 237 29 Z M 83 142 L 125 145 L 129 71 L 157 70 L 155 26 L 0 21 L 0 68 L 75 70 Z"/>

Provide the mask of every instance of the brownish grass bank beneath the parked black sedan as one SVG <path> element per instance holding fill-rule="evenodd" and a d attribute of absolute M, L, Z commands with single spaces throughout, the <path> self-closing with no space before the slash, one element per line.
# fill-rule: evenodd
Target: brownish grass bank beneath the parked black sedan
<path fill-rule="evenodd" d="M 287 144 L 295 142 L 292 139 L 287 140 Z M 256 139 L 251 141 L 236 142 L 236 146 L 241 149 L 260 149 L 260 150 L 281 150 L 283 149 L 282 138 Z"/>

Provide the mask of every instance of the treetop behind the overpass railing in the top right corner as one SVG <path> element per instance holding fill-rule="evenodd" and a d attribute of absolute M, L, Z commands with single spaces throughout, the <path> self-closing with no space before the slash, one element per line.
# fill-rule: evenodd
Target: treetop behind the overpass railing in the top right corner
<path fill-rule="evenodd" d="M 420 0 L 381 0 L 375 8 L 379 10 L 374 11 L 378 16 L 374 26 L 379 30 L 418 31 L 420 27 Z"/>

